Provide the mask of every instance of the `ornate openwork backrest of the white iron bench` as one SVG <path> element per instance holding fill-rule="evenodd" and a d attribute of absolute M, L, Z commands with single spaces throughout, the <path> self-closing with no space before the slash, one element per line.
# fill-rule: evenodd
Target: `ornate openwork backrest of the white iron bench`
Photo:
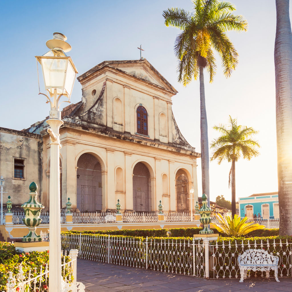
<path fill-rule="evenodd" d="M 248 249 L 238 256 L 239 264 L 274 264 L 278 265 L 279 257 L 263 249 Z"/>

